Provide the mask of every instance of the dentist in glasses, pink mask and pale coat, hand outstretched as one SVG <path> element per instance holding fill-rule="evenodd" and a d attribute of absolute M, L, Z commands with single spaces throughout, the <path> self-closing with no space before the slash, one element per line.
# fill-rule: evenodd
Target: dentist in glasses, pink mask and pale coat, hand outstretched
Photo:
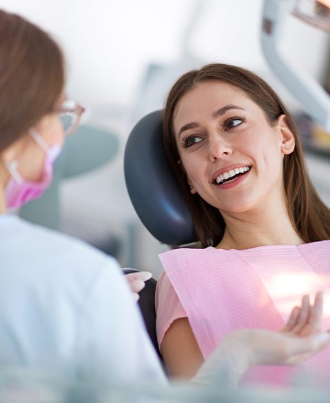
<path fill-rule="evenodd" d="M 63 55 L 43 30 L 0 10 L 0 38 L 0 369 L 166 384 L 118 263 L 8 213 L 49 186 L 83 107 L 65 96 Z M 70 127 L 62 126 L 63 114 L 72 117 Z M 305 297 L 293 309 L 282 331 L 234 331 L 194 381 L 207 383 L 219 363 L 236 384 L 249 366 L 313 355 L 330 343 L 321 320 L 318 294 L 313 306 Z M 302 337 L 297 326 L 313 331 Z"/>

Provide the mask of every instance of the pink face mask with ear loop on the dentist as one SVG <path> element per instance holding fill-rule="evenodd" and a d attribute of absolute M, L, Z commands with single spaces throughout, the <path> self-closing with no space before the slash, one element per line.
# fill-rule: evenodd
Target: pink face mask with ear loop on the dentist
<path fill-rule="evenodd" d="M 61 153 L 61 146 L 58 144 L 48 146 L 43 137 L 37 130 L 31 128 L 30 136 L 45 151 L 45 165 L 43 167 L 43 179 L 40 182 L 27 181 L 21 177 L 17 170 L 18 162 L 6 162 L 6 167 L 11 175 L 10 181 L 6 186 L 6 206 L 8 208 L 19 208 L 32 199 L 37 199 L 52 183 L 53 164 L 55 159 Z"/>

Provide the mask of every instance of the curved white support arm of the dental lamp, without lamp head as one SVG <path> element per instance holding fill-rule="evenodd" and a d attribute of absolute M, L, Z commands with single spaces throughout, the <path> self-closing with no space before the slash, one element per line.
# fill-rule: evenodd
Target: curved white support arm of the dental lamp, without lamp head
<path fill-rule="evenodd" d="M 330 132 L 330 97 L 320 83 L 297 70 L 282 57 L 285 17 L 293 12 L 292 0 L 265 0 L 262 15 L 261 43 L 271 70 L 300 101 L 307 115 Z"/>

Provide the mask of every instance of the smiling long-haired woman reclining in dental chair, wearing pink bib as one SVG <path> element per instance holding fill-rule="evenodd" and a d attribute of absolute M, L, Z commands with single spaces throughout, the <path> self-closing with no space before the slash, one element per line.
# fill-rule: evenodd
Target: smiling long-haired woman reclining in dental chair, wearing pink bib
<path fill-rule="evenodd" d="M 191 377 L 226 333 L 281 328 L 302 290 L 329 290 L 330 211 L 288 110 L 243 68 L 210 64 L 178 79 L 164 143 L 203 249 L 161 255 L 158 343 L 169 373 Z M 322 373 L 329 358 L 305 368 Z M 292 372 L 253 368 L 245 379 L 282 384 Z"/>

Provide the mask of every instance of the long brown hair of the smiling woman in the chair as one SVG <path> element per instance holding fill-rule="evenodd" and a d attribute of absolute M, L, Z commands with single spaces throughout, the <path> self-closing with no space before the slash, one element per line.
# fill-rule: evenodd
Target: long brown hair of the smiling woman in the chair
<path fill-rule="evenodd" d="M 210 206 L 198 194 L 191 195 L 189 192 L 185 170 L 178 164 L 180 156 L 174 136 L 173 118 L 178 101 L 203 81 L 222 81 L 239 88 L 264 111 L 271 125 L 276 124 L 280 115 L 286 115 L 287 124 L 296 141 L 293 153 L 285 155 L 283 166 L 289 217 L 304 242 L 329 239 L 330 210 L 311 184 L 298 131 L 289 111 L 276 92 L 254 73 L 236 66 L 214 63 L 187 72 L 179 78 L 169 92 L 163 111 L 165 152 L 192 214 L 198 241 L 203 246 L 216 246 L 225 233 L 225 221 L 217 208 Z"/>

